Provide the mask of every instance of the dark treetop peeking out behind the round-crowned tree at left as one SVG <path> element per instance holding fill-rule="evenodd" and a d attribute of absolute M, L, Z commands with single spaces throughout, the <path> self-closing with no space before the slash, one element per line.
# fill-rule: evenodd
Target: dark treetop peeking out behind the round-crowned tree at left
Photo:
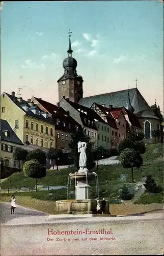
<path fill-rule="evenodd" d="M 40 164 L 46 165 L 46 154 L 39 148 L 37 150 L 29 151 L 26 160 L 29 161 L 32 159 L 36 159 Z"/>

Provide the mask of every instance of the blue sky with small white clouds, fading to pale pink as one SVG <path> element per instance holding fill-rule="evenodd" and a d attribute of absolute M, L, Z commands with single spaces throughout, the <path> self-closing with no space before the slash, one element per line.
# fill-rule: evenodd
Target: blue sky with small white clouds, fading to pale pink
<path fill-rule="evenodd" d="M 135 88 L 163 111 L 162 1 L 1 2 L 1 93 L 56 104 L 69 29 L 84 97 Z"/>

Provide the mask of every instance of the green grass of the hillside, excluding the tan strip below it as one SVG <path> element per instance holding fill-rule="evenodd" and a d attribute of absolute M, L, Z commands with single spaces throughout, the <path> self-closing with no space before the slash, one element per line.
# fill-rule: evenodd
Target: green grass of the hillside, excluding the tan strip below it
<path fill-rule="evenodd" d="M 148 174 L 151 174 L 155 179 L 156 183 L 163 186 L 163 144 L 152 144 L 147 146 L 147 151 L 143 155 L 144 164 L 140 169 L 134 168 L 134 183 L 142 180 Z M 38 179 L 38 185 L 43 186 L 56 186 L 62 185 L 67 186 L 67 179 L 69 173 L 74 173 L 76 168 L 70 167 L 66 169 L 57 170 L 47 170 L 46 177 Z M 106 165 L 99 166 L 92 169 L 92 172 L 96 172 L 99 180 L 99 196 L 100 198 L 105 197 L 111 203 L 118 203 L 119 189 L 124 183 L 131 183 L 131 170 L 127 168 L 122 168 L 120 165 Z M 121 176 L 126 175 L 126 181 L 121 181 Z M 73 183 L 73 182 L 72 182 Z M 35 179 L 25 178 L 22 173 L 15 173 L 9 178 L 7 178 L 2 184 L 1 188 L 17 188 L 21 187 L 35 187 Z M 71 189 L 74 190 L 74 184 L 72 184 Z M 16 193 L 17 194 L 17 193 Z M 18 193 L 17 195 L 19 195 Z M 96 186 L 95 181 L 91 182 L 90 189 L 91 198 L 96 197 Z M 5 196 L 5 195 L 4 195 Z M 67 198 L 67 189 L 51 190 L 51 191 L 32 191 L 32 192 L 22 192 L 21 196 L 30 196 L 33 199 L 45 200 L 45 201 L 56 201 L 63 200 Z M 72 195 L 73 198 L 73 195 Z M 153 203 L 162 202 L 162 193 L 154 195 L 144 193 L 140 199 L 136 200 L 135 203 Z"/>

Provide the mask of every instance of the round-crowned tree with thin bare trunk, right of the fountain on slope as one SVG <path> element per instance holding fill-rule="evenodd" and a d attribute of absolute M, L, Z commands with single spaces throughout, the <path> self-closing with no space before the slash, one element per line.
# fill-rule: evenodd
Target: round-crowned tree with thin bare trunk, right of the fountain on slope
<path fill-rule="evenodd" d="M 123 168 L 131 168 L 132 175 L 132 183 L 134 183 L 133 179 L 133 167 L 140 167 L 143 163 L 143 158 L 136 152 L 133 148 L 126 148 L 120 154 L 121 165 Z"/>

